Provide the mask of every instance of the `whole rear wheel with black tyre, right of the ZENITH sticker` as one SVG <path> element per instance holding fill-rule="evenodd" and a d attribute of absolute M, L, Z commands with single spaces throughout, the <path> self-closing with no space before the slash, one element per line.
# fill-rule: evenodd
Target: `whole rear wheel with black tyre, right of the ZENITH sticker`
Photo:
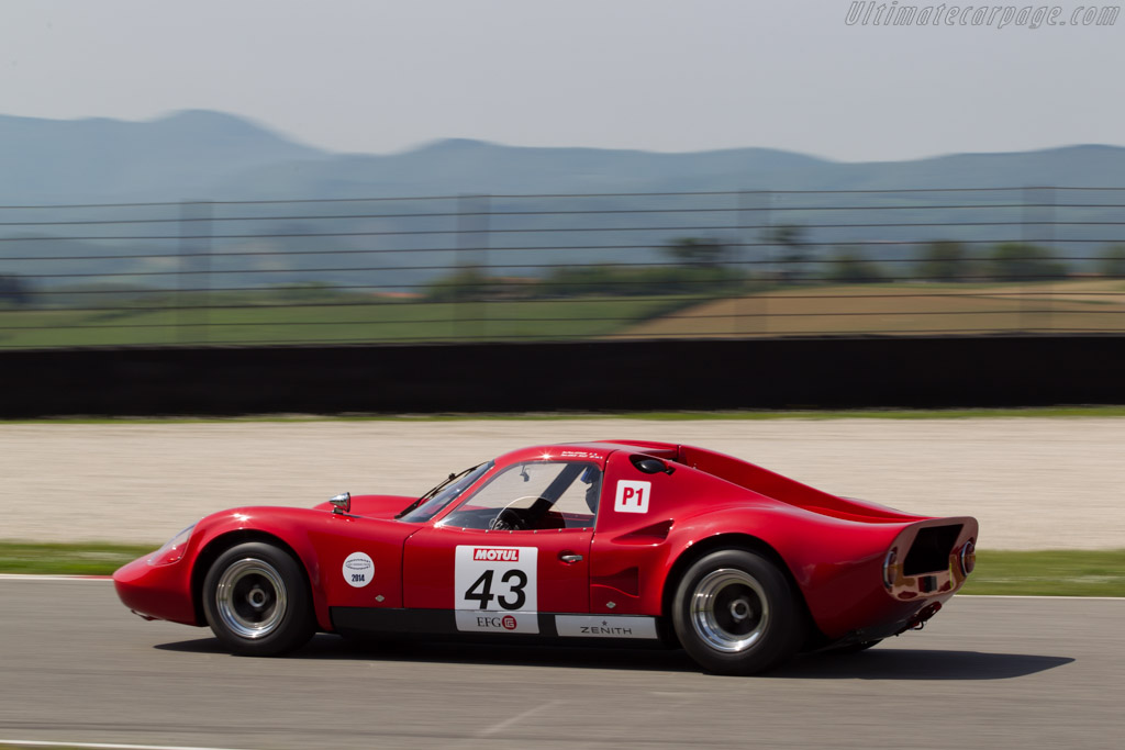
<path fill-rule="evenodd" d="M 672 624 L 684 650 L 719 675 L 753 675 L 791 659 L 804 643 L 804 608 L 785 575 L 747 550 L 696 560 L 680 579 Z"/>

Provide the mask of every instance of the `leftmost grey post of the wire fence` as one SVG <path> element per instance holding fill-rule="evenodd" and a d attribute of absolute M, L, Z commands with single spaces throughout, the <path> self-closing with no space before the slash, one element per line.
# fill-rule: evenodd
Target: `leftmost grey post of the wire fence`
<path fill-rule="evenodd" d="M 180 201 L 180 271 L 176 302 L 176 338 L 180 345 L 207 342 L 210 236 L 210 201 Z M 198 333 L 192 334 L 191 328 L 198 328 Z"/>

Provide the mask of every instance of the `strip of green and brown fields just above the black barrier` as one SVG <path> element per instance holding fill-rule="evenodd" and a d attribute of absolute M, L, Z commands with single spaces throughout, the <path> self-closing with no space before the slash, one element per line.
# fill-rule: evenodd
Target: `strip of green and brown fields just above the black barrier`
<path fill-rule="evenodd" d="M 1125 331 L 1125 282 L 1113 279 L 487 301 L 267 290 L 0 308 L 0 349 L 1115 331 Z"/>

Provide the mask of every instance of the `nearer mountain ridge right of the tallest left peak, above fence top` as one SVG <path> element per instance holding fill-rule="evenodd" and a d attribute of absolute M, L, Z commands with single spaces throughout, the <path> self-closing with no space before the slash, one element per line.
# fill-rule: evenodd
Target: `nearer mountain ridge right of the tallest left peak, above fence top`
<path fill-rule="evenodd" d="M 1125 148 L 1070 146 L 906 162 L 831 162 L 771 148 L 684 154 L 441 141 L 389 156 L 271 164 L 217 188 L 256 198 L 458 193 L 1120 187 Z"/>

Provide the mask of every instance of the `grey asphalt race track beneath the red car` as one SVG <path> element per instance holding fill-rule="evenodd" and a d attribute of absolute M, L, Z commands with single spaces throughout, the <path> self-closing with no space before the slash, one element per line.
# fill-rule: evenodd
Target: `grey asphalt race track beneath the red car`
<path fill-rule="evenodd" d="M 767 677 L 678 651 L 464 643 L 282 659 L 146 623 L 104 580 L 0 579 L 3 740 L 206 748 L 1119 748 L 1125 599 L 958 597 Z"/>

